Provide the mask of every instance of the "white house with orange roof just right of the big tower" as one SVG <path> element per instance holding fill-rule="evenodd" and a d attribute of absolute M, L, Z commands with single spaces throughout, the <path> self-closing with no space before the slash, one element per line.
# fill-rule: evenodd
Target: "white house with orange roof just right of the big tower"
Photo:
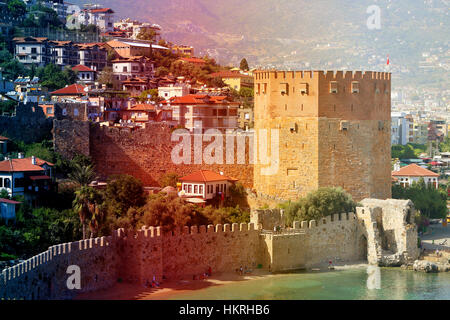
<path fill-rule="evenodd" d="M 394 171 L 392 171 L 392 178 L 402 187 L 411 186 L 414 182 L 419 182 L 421 178 L 427 186 L 433 186 L 436 189 L 439 187 L 439 174 L 414 163 L 403 168 L 395 166 Z"/>

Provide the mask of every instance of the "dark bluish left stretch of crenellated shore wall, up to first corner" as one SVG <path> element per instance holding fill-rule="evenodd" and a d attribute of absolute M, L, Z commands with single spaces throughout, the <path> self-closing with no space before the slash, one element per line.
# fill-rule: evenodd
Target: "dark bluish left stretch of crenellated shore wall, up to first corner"
<path fill-rule="evenodd" d="M 0 300 L 70 299 L 77 292 L 110 287 L 117 280 L 117 259 L 112 237 L 52 246 L 0 274 Z M 81 290 L 67 289 L 70 265 L 80 267 Z"/>

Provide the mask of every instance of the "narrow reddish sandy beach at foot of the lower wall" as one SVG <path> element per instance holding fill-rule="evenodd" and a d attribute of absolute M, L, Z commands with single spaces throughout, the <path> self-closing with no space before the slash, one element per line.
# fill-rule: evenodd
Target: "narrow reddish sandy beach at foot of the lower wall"
<path fill-rule="evenodd" d="M 251 281 L 274 276 L 278 275 L 263 270 L 255 270 L 252 274 L 243 276 L 236 273 L 213 274 L 212 277 L 204 280 L 165 281 L 161 283 L 159 288 L 146 288 L 140 284 L 116 283 L 108 289 L 79 294 L 75 300 L 166 300 L 180 293 L 211 286 L 221 286 L 236 281 Z"/>

